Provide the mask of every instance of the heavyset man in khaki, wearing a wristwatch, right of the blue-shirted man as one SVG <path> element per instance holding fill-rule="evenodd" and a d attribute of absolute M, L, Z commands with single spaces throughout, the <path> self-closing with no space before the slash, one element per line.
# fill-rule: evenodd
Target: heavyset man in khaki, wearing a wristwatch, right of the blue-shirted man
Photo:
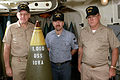
<path fill-rule="evenodd" d="M 82 29 L 79 37 L 78 70 L 82 80 L 109 80 L 116 74 L 118 47 L 120 43 L 112 29 L 100 23 L 96 6 L 86 9 L 88 27 Z M 109 48 L 112 49 L 111 66 L 108 65 Z"/>

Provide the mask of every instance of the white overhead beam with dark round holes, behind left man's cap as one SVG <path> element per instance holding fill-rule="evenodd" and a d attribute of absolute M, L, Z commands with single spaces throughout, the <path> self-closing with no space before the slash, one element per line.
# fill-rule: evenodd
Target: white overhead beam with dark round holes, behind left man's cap
<path fill-rule="evenodd" d="M 30 11 L 49 12 L 57 8 L 58 0 L 0 0 L 0 13 L 16 13 L 17 5 L 28 4 Z"/>

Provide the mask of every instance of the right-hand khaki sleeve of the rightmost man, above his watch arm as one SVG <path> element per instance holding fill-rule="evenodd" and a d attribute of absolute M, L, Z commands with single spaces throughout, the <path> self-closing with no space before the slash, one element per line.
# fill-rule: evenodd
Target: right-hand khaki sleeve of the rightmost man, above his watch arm
<path fill-rule="evenodd" d="M 109 45 L 112 49 L 120 46 L 120 42 L 112 29 L 109 29 L 108 38 L 109 38 Z"/>

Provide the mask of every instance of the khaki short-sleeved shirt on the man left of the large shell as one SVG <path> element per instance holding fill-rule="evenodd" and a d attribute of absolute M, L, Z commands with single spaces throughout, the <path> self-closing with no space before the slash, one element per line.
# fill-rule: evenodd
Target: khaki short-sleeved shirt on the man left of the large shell
<path fill-rule="evenodd" d="M 28 22 L 27 29 L 23 29 L 19 22 L 7 27 L 3 42 L 10 44 L 12 56 L 27 56 L 34 25 Z"/>

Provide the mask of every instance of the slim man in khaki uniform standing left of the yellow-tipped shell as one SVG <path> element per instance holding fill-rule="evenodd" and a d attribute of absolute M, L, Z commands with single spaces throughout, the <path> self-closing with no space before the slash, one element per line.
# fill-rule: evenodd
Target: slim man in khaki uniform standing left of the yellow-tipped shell
<path fill-rule="evenodd" d="M 30 10 L 28 5 L 20 4 L 17 12 L 18 21 L 7 27 L 4 42 L 4 62 L 6 74 L 13 80 L 25 80 L 25 70 L 30 40 L 34 25 L 28 22 Z M 10 66 L 9 56 L 12 55 Z"/>

